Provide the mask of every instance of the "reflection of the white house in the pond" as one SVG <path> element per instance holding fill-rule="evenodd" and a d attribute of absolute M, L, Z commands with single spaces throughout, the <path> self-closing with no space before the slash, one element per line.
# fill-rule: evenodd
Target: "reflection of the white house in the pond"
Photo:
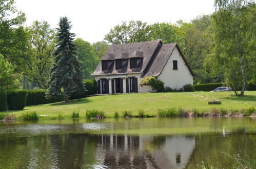
<path fill-rule="evenodd" d="M 110 168 L 182 168 L 195 137 L 99 135 L 97 161 Z"/>

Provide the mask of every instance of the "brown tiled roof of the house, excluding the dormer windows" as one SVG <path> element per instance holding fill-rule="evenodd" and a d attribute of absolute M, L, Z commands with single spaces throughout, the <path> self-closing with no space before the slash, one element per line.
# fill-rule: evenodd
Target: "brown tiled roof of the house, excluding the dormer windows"
<path fill-rule="evenodd" d="M 177 47 L 181 53 L 181 50 L 177 44 L 162 45 L 161 40 L 145 41 L 133 44 L 111 45 L 109 46 L 101 60 L 129 59 L 133 57 L 141 57 L 143 58 L 143 61 L 136 69 L 130 69 L 130 63 L 127 60 L 127 62 L 125 61 L 125 65 L 122 70 L 116 70 L 115 63 L 113 63 L 112 65 L 110 65 L 110 69 L 107 71 L 102 71 L 102 64 L 100 61 L 99 65 L 92 73 L 92 76 L 128 73 L 142 73 L 143 77 L 159 76 L 175 47 Z M 181 56 L 187 64 L 187 61 L 182 53 Z M 193 74 L 189 66 L 188 68 L 191 74 Z"/>

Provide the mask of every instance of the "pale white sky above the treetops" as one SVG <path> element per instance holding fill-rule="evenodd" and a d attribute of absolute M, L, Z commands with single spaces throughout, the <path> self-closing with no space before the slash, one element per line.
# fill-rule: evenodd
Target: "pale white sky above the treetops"
<path fill-rule="evenodd" d="M 211 14 L 213 4 L 214 0 L 16 0 L 15 6 L 25 12 L 25 26 L 31 26 L 34 20 L 46 20 L 57 28 L 60 17 L 67 16 L 75 38 L 95 43 L 123 20 L 148 24 L 174 24 L 180 19 L 189 22 L 196 16 Z"/>

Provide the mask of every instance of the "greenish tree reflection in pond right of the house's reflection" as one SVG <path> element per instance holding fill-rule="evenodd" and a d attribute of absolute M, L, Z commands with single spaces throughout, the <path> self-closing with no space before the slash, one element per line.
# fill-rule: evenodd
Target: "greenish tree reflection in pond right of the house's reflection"
<path fill-rule="evenodd" d="M 225 137 L 222 133 L 198 134 L 195 136 L 195 147 L 193 155 L 189 159 L 188 166 L 193 168 L 202 161 L 207 161 L 215 167 L 228 168 L 232 161 L 230 155 L 238 154 L 239 151 L 248 151 L 252 156 L 255 148 L 255 135 L 245 132 L 245 129 L 238 129 L 232 133 L 227 133 Z M 251 154 L 251 155 L 250 155 Z"/>

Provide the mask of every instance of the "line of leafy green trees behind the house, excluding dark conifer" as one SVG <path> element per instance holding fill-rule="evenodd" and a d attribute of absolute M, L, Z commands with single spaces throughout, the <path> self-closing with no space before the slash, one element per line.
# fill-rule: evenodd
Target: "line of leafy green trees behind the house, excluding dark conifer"
<path fill-rule="evenodd" d="M 14 0 L 1 0 L 0 14 L 1 88 L 48 89 L 57 30 L 44 20 L 24 27 L 25 13 L 17 11 Z M 102 41 L 76 38 L 73 44 L 82 78 L 89 79 L 109 45 L 162 38 L 164 44 L 179 44 L 195 74 L 194 84 L 225 82 L 243 95 L 248 83 L 256 83 L 255 17 L 253 1 L 215 0 L 214 13 L 189 23 L 129 20 L 114 26 Z"/>

